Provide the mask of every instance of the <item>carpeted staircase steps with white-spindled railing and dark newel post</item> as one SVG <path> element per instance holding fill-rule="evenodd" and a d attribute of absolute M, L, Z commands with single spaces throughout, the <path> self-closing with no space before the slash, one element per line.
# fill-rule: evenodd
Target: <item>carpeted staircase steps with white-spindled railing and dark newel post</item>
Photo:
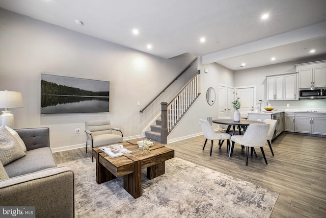
<path fill-rule="evenodd" d="M 155 120 L 155 125 L 150 126 L 150 131 L 145 131 L 146 138 L 167 143 L 168 134 L 176 127 L 186 111 L 200 95 L 199 75 L 200 70 L 169 104 L 166 102 L 161 103 L 161 117 Z"/>

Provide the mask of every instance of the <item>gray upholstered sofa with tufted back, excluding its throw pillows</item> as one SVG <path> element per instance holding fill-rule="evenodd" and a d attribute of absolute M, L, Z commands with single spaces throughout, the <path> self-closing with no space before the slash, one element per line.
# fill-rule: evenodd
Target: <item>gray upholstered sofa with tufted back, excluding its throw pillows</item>
<path fill-rule="evenodd" d="M 74 217 L 74 174 L 57 167 L 48 128 L 15 129 L 25 143 L 25 156 L 5 166 L 0 181 L 1 206 L 35 206 L 36 217 Z"/>

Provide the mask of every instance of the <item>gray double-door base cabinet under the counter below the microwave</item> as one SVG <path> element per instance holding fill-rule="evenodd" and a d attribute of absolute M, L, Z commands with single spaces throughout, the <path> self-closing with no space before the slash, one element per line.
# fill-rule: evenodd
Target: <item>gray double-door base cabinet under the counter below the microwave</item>
<path fill-rule="evenodd" d="M 295 132 L 326 135 L 324 113 L 295 113 Z"/>

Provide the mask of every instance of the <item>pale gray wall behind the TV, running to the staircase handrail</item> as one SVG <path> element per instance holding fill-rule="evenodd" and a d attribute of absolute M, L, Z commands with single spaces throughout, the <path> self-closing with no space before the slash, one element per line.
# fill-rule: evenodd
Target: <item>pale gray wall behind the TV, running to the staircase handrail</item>
<path fill-rule="evenodd" d="M 125 139 L 141 137 L 160 112 L 160 102 L 144 107 L 196 57 L 185 54 L 162 59 L 114 43 L 0 9 L 0 90 L 20 91 L 24 108 L 10 109 L 15 128 L 49 127 L 53 151 L 82 147 L 85 121 L 111 119 Z M 173 85 L 173 94 L 196 71 Z M 111 82 L 108 113 L 40 114 L 42 73 Z M 141 106 L 137 106 L 137 102 Z M 75 134 L 80 128 L 80 134 Z"/>

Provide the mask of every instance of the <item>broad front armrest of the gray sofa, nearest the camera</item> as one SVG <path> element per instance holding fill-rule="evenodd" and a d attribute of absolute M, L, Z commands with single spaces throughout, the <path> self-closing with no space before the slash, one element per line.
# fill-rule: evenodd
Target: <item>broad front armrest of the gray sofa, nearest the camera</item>
<path fill-rule="evenodd" d="M 0 181 L 0 193 L 2 206 L 35 206 L 40 217 L 74 217 L 74 174 L 68 166 Z"/>

